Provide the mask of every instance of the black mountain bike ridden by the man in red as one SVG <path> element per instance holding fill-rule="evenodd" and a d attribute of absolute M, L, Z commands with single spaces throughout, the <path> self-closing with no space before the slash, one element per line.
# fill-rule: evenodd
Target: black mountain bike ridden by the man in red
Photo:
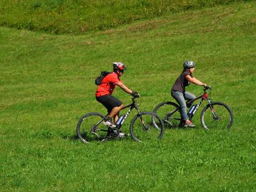
<path fill-rule="evenodd" d="M 130 107 L 125 116 L 120 116 L 121 121 L 116 128 L 112 129 L 103 124 L 108 115 L 104 116 L 99 112 L 90 112 L 83 115 L 77 123 L 76 133 L 82 142 L 90 142 L 92 140 L 99 139 L 101 142 L 108 139 L 117 139 L 119 137 L 122 124 L 129 116 L 132 109 L 136 109 L 138 114 L 134 116 L 130 124 L 131 137 L 137 141 L 146 141 L 152 139 L 161 139 L 164 134 L 164 123 L 161 118 L 153 112 L 140 112 L 139 107 L 136 104 L 136 98 L 132 97 L 132 104 L 125 106 L 122 110 Z M 152 124 L 152 118 L 154 118 L 154 125 Z M 119 122 L 117 121 L 117 122 Z M 156 126 L 155 126 L 156 125 Z"/>

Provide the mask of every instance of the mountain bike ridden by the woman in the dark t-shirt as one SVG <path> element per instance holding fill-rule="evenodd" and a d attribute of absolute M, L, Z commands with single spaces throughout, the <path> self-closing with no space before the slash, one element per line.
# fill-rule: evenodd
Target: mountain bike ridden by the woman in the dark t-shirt
<path fill-rule="evenodd" d="M 208 105 L 206 105 L 201 111 L 200 121 L 201 125 L 205 130 L 210 130 L 214 128 L 224 128 L 230 129 L 233 124 L 233 113 L 230 107 L 223 102 L 212 102 L 209 95 L 211 93 L 211 88 L 206 86 L 204 87 L 204 94 L 196 97 L 194 100 L 190 100 L 186 102 L 186 106 L 190 107 L 188 110 L 188 116 L 191 120 L 195 115 L 195 112 L 199 109 L 200 105 L 204 100 L 208 101 Z M 197 105 L 192 105 L 194 101 L 199 100 Z M 178 104 L 166 101 L 162 102 L 155 107 L 153 112 L 161 117 L 165 126 L 169 126 L 171 129 L 175 127 L 183 127 L 184 121 L 181 119 L 180 107 Z M 154 117 L 152 118 L 152 123 L 155 127 L 157 124 L 155 123 Z"/>

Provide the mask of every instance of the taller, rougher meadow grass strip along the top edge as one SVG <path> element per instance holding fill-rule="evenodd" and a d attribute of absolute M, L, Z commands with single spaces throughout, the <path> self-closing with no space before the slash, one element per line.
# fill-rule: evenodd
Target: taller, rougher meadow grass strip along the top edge
<path fill-rule="evenodd" d="M 0 26 L 84 34 L 174 12 L 248 0 L 1 0 Z"/>

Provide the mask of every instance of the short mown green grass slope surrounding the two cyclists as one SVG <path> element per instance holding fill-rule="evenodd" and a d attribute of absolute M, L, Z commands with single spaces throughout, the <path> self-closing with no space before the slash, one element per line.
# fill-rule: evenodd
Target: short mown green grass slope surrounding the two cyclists
<path fill-rule="evenodd" d="M 0 191 L 255 191 L 255 12 L 253 1 L 235 3 L 82 36 L 0 27 Z M 187 59 L 232 108 L 230 132 L 205 132 L 198 113 L 195 129 L 165 130 L 161 141 L 76 139 L 83 114 L 106 113 L 94 79 L 112 62 L 126 63 L 122 81 L 152 111 L 173 101 Z M 130 102 L 120 88 L 114 95 Z"/>

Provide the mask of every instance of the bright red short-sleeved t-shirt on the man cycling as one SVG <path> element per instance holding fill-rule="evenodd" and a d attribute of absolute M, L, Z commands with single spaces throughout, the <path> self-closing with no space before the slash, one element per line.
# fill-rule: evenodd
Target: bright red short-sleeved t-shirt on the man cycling
<path fill-rule="evenodd" d="M 96 90 L 96 97 L 111 95 L 114 92 L 114 89 L 116 88 L 117 82 L 121 82 L 121 80 L 115 72 L 112 72 L 106 77 L 104 77 L 101 81 L 101 85 L 99 85 Z"/>

